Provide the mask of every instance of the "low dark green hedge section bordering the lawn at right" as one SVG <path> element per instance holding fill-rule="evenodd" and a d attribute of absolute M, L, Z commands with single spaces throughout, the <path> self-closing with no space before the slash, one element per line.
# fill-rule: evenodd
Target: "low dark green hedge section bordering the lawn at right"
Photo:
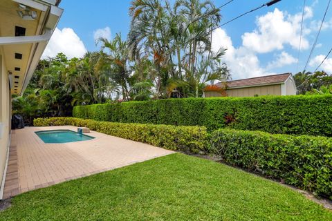
<path fill-rule="evenodd" d="M 220 129 L 211 135 L 211 151 L 233 166 L 332 199 L 331 138 Z"/>

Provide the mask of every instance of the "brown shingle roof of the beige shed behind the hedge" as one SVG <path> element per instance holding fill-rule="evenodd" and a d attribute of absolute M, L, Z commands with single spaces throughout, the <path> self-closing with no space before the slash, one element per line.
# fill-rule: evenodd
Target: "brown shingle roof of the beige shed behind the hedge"
<path fill-rule="evenodd" d="M 259 86 L 264 84 L 277 84 L 283 83 L 288 79 L 291 73 L 280 74 L 280 75 L 268 75 L 263 77 L 252 77 L 247 79 L 240 79 L 235 81 L 228 81 L 228 88 L 238 88 L 244 86 Z M 216 84 L 217 86 L 221 86 L 222 83 Z"/>

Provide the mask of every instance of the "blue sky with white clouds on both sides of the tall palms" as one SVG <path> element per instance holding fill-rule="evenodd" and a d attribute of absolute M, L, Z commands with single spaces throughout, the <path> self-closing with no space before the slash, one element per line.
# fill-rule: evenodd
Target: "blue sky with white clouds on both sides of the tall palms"
<path fill-rule="evenodd" d="M 160 0 L 161 1 L 161 0 Z M 213 1 L 213 0 L 212 0 Z M 228 0 L 214 0 L 218 7 Z M 221 9 L 223 20 L 228 21 L 260 6 L 267 0 L 234 0 Z M 261 8 L 236 21 L 232 21 L 213 35 L 214 48 L 228 48 L 225 63 L 233 79 L 256 77 L 275 73 L 296 73 L 303 70 L 311 46 L 317 35 L 324 10 L 329 0 L 306 0 L 302 50 L 299 46 L 302 0 L 282 0 L 271 7 Z M 68 57 L 80 57 L 86 50 L 99 50 L 95 37 L 114 37 L 117 32 L 125 39 L 129 30 L 129 0 L 73 1 L 60 4 L 64 14 L 46 48 L 44 56 L 64 52 Z M 332 47 L 332 5 L 307 70 L 315 70 Z M 332 73 L 332 58 L 322 66 Z"/>

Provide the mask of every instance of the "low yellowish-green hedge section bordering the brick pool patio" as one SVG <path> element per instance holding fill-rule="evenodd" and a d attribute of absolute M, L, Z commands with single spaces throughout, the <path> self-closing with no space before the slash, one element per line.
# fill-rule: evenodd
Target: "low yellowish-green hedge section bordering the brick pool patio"
<path fill-rule="evenodd" d="M 172 151 L 199 153 L 208 146 L 208 133 L 203 126 L 169 126 L 98 122 L 75 117 L 36 118 L 34 126 L 86 126 L 93 131 L 160 146 Z"/>

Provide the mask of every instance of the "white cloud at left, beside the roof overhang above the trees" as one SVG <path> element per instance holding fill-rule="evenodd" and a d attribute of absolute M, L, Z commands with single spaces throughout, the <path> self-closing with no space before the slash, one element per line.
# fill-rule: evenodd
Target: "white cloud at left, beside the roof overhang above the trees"
<path fill-rule="evenodd" d="M 63 28 L 59 30 L 59 28 L 55 28 L 42 58 L 55 57 L 59 52 L 64 53 L 68 59 L 71 59 L 82 57 L 86 53 L 86 48 L 73 29 Z"/>

